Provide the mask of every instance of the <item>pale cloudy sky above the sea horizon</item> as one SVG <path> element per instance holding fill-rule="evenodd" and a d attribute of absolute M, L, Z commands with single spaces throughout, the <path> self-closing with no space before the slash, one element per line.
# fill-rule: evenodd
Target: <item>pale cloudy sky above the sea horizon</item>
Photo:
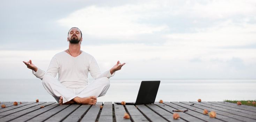
<path fill-rule="evenodd" d="M 0 78 L 35 78 L 78 27 L 81 49 L 116 79 L 255 79 L 255 0 L 9 0 L 0 4 Z"/>

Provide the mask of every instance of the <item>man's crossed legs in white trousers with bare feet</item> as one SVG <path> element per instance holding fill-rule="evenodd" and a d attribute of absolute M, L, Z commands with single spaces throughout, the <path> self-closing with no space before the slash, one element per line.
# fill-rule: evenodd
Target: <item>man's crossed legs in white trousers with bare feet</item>
<path fill-rule="evenodd" d="M 101 77 L 89 84 L 78 94 L 63 86 L 57 79 L 46 74 L 42 80 L 45 90 L 51 94 L 59 104 L 89 104 L 95 105 L 97 97 L 104 96 L 110 87 L 107 77 Z"/>

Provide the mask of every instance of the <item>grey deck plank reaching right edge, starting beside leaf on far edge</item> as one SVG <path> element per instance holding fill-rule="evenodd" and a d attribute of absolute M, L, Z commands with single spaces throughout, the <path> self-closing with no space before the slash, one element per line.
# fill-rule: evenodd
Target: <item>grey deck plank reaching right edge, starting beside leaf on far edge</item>
<path fill-rule="evenodd" d="M 210 103 L 210 102 L 201 102 L 201 103 L 211 105 L 211 106 L 220 107 L 220 108 L 225 108 L 225 109 L 228 109 L 228 110 L 233 110 L 233 111 L 236 111 L 236 112 L 241 112 L 241 113 L 245 113 L 245 114 L 249 114 L 249 115 L 254 115 L 255 119 L 256 119 L 256 113 L 255 112 L 251 112 L 251 111 L 248 111 L 248 110 L 242 110 L 242 109 L 238 109 L 238 108 L 233 108 L 233 107 L 228 107 L 228 106 L 223 106 L 223 105 L 219 105 L 219 104 L 213 104 L 213 103 Z"/>

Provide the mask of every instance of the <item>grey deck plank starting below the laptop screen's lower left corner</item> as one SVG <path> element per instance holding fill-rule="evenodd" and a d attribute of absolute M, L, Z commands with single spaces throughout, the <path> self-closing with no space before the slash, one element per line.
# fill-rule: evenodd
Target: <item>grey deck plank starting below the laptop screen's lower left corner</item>
<path fill-rule="evenodd" d="M 167 122 L 163 117 L 159 116 L 152 110 L 150 110 L 145 105 L 136 105 L 136 107 L 148 118 L 150 121 L 153 122 Z"/>

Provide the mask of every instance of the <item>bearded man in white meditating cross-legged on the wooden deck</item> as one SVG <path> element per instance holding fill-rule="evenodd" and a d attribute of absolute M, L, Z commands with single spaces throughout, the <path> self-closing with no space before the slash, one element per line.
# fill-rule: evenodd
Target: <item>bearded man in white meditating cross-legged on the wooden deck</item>
<path fill-rule="evenodd" d="M 42 80 L 46 91 L 59 104 L 95 105 L 97 97 L 104 96 L 110 86 L 109 78 L 125 63 L 119 61 L 105 73 L 101 73 L 96 60 L 81 51 L 82 32 L 73 27 L 68 31 L 69 48 L 53 56 L 47 71 L 37 68 L 31 60 L 23 61 L 32 73 Z M 58 80 L 55 79 L 58 73 Z M 88 73 L 95 79 L 88 84 Z"/>

